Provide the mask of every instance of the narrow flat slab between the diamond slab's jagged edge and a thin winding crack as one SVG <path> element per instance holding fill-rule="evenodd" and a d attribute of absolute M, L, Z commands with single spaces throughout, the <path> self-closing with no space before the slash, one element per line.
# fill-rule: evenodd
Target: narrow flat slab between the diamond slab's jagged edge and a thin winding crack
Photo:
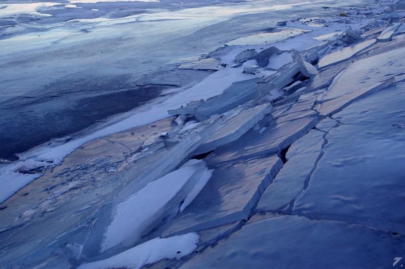
<path fill-rule="evenodd" d="M 324 132 L 311 130 L 291 145 L 288 157 L 286 155 L 287 163 L 260 197 L 256 211 L 277 212 L 301 193 L 321 153 L 323 135 Z"/>

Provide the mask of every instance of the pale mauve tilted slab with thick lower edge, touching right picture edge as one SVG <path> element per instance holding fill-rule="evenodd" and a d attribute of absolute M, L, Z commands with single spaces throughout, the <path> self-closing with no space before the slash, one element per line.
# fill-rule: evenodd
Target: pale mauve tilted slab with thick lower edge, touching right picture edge
<path fill-rule="evenodd" d="M 335 77 L 315 109 L 321 115 L 331 115 L 395 80 L 404 79 L 404 53 L 405 49 L 400 48 L 354 62 Z"/>

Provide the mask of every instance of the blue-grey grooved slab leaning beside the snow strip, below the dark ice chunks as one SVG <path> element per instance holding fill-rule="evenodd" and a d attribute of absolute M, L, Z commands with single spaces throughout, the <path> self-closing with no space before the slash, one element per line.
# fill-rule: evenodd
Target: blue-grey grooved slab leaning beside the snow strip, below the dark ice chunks
<path fill-rule="evenodd" d="M 233 82 L 224 89 L 223 93 L 216 99 L 206 101 L 194 109 L 194 116 L 199 121 L 209 119 L 213 115 L 225 113 L 260 96 L 257 82 L 261 78 L 253 78 Z"/>

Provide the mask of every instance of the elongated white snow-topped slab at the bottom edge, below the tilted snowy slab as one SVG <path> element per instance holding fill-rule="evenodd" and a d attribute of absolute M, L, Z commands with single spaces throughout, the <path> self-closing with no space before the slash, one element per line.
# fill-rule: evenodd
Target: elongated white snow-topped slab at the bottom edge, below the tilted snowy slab
<path fill-rule="evenodd" d="M 180 259 L 190 254 L 197 247 L 199 235 L 189 233 L 171 238 L 155 238 L 111 258 L 85 263 L 78 269 L 139 269 L 145 264 L 152 264 L 161 259 Z"/>

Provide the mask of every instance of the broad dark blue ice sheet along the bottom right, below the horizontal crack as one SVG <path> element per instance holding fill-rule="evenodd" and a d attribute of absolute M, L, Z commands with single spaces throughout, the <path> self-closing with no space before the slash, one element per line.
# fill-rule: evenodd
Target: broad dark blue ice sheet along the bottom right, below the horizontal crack
<path fill-rule="evenodd" d="M 266 214 L 252 217 L 180 268 L 388 268 L 404 252 L 403 235 L 338 221 Z"/>

